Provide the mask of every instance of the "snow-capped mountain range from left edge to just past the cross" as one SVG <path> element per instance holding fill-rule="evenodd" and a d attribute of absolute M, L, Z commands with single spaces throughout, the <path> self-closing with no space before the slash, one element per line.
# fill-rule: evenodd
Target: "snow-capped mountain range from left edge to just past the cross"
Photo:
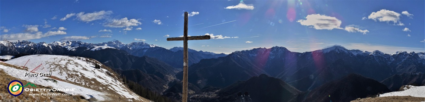
<path fill-rule="evenodd" d="M 124 44 L 118 40 L 108 41 L 99 44 L 86 43 L 82 41 L 55 41 L 52 43 L 34 43 L 31 41 L 10 42 L 7 40 L 0 41 L 0 55 L 18 55 L 26 53 L 29 55 L 47 54 L 79 56 L 76 54 L 79 54 L 80 52 L 85 52 L 85 50 L 100 51 L 105 49 L 122 50 L 125 51 L 127 55 L 133 55 L 137 57 L 149 56 L 164 61 L 175 68 L 182 68 L 182 47 L 174 47 L 170 50 L 167 50 L 155 44 L 147 44 L 144 42 L 131 42 L 129 44 Z M 113 52 L 119 53 L 119 51 Z M 192 49 L 189 49 L 189 52 L 189 65 L 193 63 L 198 63 L 201 59 L 226 56 L 226 54 L 224 53 L 216 54 L 213 52 L 203 52 Z"/>

